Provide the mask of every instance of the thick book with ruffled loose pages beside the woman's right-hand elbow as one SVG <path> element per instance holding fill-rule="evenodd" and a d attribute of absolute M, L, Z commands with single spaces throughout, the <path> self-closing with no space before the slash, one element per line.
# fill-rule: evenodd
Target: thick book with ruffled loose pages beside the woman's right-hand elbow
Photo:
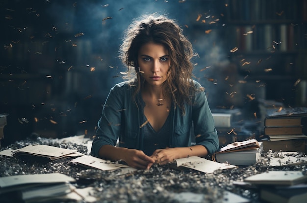
<path fill-rule="evenodd" d="M 262 143 L 256 139 L 234 142 L 214 153 L 212 160 L 220 163 L 248 166 L 256 164 L 260 160 L 262 150 Z"/>

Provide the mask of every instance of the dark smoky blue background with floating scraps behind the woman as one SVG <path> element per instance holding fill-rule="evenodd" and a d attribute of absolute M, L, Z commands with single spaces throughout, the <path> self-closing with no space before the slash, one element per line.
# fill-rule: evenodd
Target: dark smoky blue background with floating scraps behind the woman
<path fill-rule="evenodd" d="M 192 42 L 211 109 L 240 108 L 253 120 L 258 99 L 306 106 L 306 0 L 0 0 L 0 113 L 9 114 L 2 145 L 33 133 L 95 135 L 125 71 L 122 33 L 153 12 L 176 19 Z"/>

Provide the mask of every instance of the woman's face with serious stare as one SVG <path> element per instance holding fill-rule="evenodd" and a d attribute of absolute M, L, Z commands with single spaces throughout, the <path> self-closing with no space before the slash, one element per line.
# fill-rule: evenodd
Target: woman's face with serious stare
<path fill-rule="evenodd" d="M 140 73 L 145 81 L 153 86 L 159 86 L 166 81 L 170 68 L 168 51 L 161 44 L 149 42 L 144 44 L 138 53 Z"/>

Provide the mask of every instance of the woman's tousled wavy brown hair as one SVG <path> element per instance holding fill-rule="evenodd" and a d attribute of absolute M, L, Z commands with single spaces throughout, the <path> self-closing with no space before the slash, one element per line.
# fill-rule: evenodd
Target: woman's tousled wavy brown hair
<path fill-rule="evenodd" d="M 183 29 L 173 19 L 169 19 L 165 15 L 156 13 L 143 15 L 134 20 L 124 32 L 119 58 L 128 68 L 124 72 L 124 78 L 134 78 L 132 84 L 137 86 L 134 92 L 135 97 L 141 90 L 141 84 L 144 80 L 140 75 L 137 62 L 140 48 L 148 42 L 163 45 L 168 50 L 171 61 L 167 79 L 162 84 L 163 96 L 171 98 L 184 114 L 184 103 L 191 103 L 191 93 L 195 92 L 195 89 L 191 82 L 192 44 L 182 32 Z"/>

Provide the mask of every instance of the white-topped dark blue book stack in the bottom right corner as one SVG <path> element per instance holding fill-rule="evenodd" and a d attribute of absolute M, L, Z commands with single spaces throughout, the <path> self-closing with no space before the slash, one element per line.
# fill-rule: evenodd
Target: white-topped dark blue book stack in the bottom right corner
<path fill-rule="evenodd" d="M 307 175 L 301 171 L 268 171 L 244 179 L 259 188 L 260 199 L 270 203 L 303 203 Z"/>

